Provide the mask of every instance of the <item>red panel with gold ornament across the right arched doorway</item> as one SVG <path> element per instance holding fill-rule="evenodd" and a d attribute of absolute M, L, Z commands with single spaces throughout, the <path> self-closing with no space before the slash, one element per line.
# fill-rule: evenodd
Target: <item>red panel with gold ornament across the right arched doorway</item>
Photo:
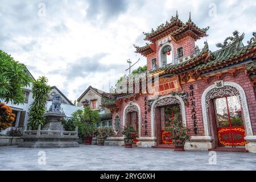
<path fill-rule="evenodd" d="M 218 127 L 218 143 L 221 146 L 245 146 L 245 128 L 243 126 Z"/>

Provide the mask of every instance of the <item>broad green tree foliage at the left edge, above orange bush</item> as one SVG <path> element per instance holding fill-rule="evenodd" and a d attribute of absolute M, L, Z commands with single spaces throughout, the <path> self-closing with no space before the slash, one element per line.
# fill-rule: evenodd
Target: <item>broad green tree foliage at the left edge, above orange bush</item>
<path fill-rule="evenodd" d="M 26 67 L 0 50 L 0 99 L 13 104 L 24 103 L 23 88 L 30 85 Z"/>

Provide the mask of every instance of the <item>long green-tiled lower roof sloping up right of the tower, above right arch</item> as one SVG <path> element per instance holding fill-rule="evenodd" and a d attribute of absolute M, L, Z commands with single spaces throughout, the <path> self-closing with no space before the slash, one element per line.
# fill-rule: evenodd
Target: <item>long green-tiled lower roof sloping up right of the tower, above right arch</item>
<path fill-rule="evenodd" d="M 224 65 L 237 63 L 250 57 L 255 58 L 255 52 L 256 41 L 254 39 L 250 41 L 249 45 L 243 46 L 241 36 L 237 36 L 237 39 L 236 37 L 232 39 L 232 43 L 222 46 L 218 51 L 209 51 L 208 44 L 205 43 L 205 47 L 199 55 L 189 57 L 189 59 L 178 64 L 169 64 L 165 67 L 155 69 L 151 73 L 161 72 L 160 75 L 165 73 L 180 73 L 192 68 L 198 72 L 205 72 L 209 69 L 216 69 Z"/>

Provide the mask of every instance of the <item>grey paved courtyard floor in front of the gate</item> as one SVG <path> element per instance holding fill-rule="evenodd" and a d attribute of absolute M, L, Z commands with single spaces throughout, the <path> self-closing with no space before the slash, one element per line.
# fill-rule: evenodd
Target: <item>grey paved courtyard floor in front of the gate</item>
<path fill-rule="evenodd" d="M 46 164 L 38 163 L 46 154 Z M 41 158 L 40 158 L 41 157 Z M 174 152 L 160 148 L 84 146 L 77 148 L 0 147 L 0 170 L 256 170 L 256 154 L 217 152 L 209 164 L 209 152 Z"/>

